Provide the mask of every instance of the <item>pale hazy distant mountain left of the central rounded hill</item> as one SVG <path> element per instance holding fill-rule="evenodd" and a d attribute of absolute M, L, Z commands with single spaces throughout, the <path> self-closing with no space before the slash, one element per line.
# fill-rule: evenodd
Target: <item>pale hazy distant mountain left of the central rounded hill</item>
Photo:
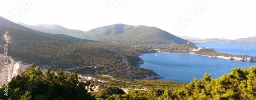
<path fill-rule="evenodd" d="M 37 30 L 40 32 L 45 32 L 45 33 L 54 33 L 54 34 L 68 34 L 68 33 L 75 33 L 75 34 L 79 34 L 79 33 L 84 33 L 81 30 L 72 30 L 72 29 L 68 29 L 56 24 L 37 24 L 37 25 L 28 25 L 22 22 L 18 22 L 18 24 L 33 29 L 33 30 Z"/>

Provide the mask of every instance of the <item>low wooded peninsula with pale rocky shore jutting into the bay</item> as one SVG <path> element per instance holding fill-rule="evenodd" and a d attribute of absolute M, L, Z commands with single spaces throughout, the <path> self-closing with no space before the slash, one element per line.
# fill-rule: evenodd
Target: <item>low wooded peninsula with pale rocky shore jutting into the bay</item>
<path fill-rule="evenodd" d="M 176 44 L 170 47 L 155 47 L 155 46 L 139 46 L 135 45 L 133 48 L 135 52 L 167 52 L 167 53 L 186 53 L 193 55 L 201 55 L 207 57 L 217 57 L 227 60 L 237 60 L 237 61 L 256 61 L 256 57 L 248 55 L 232 55 L 226 53 L 218 53 L 214 49 L 209 47 L 196 47 L 194 43 L 187 42 L 187 44 Z"/>

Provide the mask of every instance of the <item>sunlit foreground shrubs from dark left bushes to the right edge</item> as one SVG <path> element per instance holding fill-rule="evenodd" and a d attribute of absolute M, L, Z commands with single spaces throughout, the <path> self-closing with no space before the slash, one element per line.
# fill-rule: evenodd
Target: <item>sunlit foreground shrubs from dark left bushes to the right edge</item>
<path fill-rule="evenodd" d="M 231 73 L 224 74 L 218 79 L 212 79 L 210 74 L 205 73 L 201 81 L 194 79 L 182 88 L 172 89 L 175 87 L 168 86 L 171 85 L 170 83 L 172 84 L 172 82 L 154 80 L 138 81 L 136 84 L 143 84 L 140 87 L 146 84 L 148 90 L 131 90 L 127 94 L 104 95 L 104 97 L 108 97 L 106 99 L 255 99 L 256 66 L 251 66 L 249 69 L 232 68 Z M 163 89 L 163 87 L 168 88 Z M 98 95 L 97 99 L 101 99 L 101 96 Z"/>

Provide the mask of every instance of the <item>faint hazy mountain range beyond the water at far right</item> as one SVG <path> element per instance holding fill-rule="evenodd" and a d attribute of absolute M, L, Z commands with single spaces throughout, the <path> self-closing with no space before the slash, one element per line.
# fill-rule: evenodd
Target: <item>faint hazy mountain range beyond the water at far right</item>
<path fill-rule="evenodd" d="M 179 36 L 183 39 L 186 39 L 190 42 L 209 42 L 209 43 L 230 43 L 230 44 L 249 44 L 256 45 L 256 36 L 247 37 L 247 38 L 239 38 L 239 39 L 224 39 L 224 38 L 195 38 L 195 37 L 187 37 L 187 36 Z"/>

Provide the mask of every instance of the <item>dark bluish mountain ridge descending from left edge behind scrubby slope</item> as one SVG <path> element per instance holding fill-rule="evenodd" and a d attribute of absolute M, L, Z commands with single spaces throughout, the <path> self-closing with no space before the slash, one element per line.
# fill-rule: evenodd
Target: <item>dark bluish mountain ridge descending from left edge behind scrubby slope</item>
<path fill-rule="evenodd" d="M 5 27 L 5 28 L 11 28 L 11 29 L 16 29 L 19 31 L 25 31 L 29 33 L 35 33 L 35 34 L 40 34 L 40 35 L 50 35 L 52 37 L 58 38 L 58 39 L 64 39 L 72 42 L 97 42 L 94 40 L 87 40 L 87 39 L 81 39 L 81 38 L 75 38 L 71 37 L 65 34 L 50 34 L 50 33 L 44 33 L 36 30 L 29 29 L 27 27 L 21 26 L 20 24 L 14 23 L 4 17 L 0 16 L 0 27 Z"/>

